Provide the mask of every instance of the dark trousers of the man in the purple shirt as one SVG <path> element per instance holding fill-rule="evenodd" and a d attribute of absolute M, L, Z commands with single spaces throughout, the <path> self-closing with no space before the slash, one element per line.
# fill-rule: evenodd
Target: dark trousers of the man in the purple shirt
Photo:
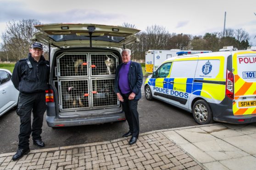
<path fill-rule="evenodd" d="M 123 102 L 121 102 L 126 120 L 129 125 L 129 131 L 132 134 L 132 137 L 139 137 L 139 113 L 137 111 L 138 101 L 139 100 L 129 100 L 130 93 L 122 94 Z"/>

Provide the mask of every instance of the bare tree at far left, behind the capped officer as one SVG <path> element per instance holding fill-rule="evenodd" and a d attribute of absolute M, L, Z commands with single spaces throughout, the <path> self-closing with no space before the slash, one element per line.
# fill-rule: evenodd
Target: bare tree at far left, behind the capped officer
<path fill-rule="evenodd" d="M 17 61 L 27 56 L 29 46 L 33 43 L 31 37 L 37 32 L 33 26 L 39 24 L 41 23 L 35 19 L 7 23 L 6 30 L 1 35 L 3 40 L 1 48 L 8 53 L 10 60 Z"/>

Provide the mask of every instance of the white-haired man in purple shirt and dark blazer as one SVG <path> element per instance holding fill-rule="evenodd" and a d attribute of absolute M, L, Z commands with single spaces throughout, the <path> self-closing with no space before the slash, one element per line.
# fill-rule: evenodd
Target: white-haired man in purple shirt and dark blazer
<path fill-rule="evenodd" d="M 122 50 L 122 64 L 117 66 L 115 92 L 121 102 L 129 125 L 128 133 L 122 137 L 132 136 L 129 144 L 137 142 L 139 137 L 138 101 L 141 98 L 143 82 L 142 69 L 139 63 L 131 61 L 131 50 Z"/>

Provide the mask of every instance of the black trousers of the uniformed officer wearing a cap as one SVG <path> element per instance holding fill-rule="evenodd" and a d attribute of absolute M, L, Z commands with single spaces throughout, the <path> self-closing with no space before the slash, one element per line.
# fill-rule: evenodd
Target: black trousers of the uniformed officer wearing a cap
<path fill-rule="evenodd" d="M 19 149 L 29 148 L 29 137 L 32 132 L 33 141 L 41 139 L 44 113 L 46 110 L 45 92 L 20 93 L 17 114 L 20 116 Z M 31 127 L 31 112 L 33 123 Z"/>

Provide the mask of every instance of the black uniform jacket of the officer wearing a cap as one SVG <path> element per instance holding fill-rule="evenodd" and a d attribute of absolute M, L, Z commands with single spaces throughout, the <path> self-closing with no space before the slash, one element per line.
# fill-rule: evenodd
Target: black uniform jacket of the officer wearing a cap
<path fill-rule="evenodd" d="M 28 64 L 28 60 L 31 65 Z M 28 53 L 28 58 L 21 59 L 15 64 L 11 81 L 21 93 L 35 93 L 48 89 L 49 75 L 49 61 L 41 56 L 37 62 L 32 58 L 31 53 Z"/>

